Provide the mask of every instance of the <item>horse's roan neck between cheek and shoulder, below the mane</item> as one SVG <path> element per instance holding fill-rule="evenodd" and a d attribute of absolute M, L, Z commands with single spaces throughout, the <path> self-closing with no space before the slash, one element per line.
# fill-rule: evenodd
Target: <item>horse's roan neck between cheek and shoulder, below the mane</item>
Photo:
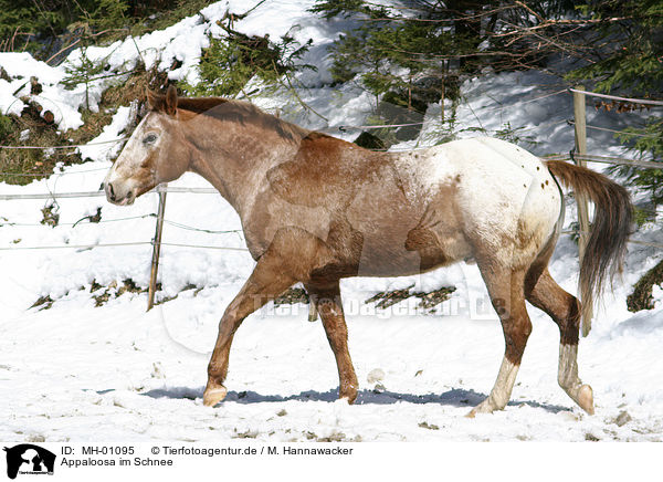
<path fill-rule="evenodd" d="M 266 182 L 266 171 L 294 155 L 296 144 L 271 132 L 233 127 L 194 129 L 190 135 L 197 153 L 190 170 L 214 186 L 243 218 Z"/>

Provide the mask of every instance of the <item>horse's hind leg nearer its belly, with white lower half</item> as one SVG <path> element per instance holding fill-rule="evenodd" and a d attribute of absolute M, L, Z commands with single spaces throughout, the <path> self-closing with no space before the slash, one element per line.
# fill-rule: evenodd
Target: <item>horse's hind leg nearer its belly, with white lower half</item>
<path fill-rule="evenodd" d="M 492 260 L 487 262 L 477 260 L 477 264 L 493 306 L 502 322 L 506 349 L 491 395 L 472 409 L 467 413 L 469 417 L 502 410 L 506 406 L 516 381 L 527 338 L 532 333 L 523 290 L 525 271 L 499 266 Z"/>

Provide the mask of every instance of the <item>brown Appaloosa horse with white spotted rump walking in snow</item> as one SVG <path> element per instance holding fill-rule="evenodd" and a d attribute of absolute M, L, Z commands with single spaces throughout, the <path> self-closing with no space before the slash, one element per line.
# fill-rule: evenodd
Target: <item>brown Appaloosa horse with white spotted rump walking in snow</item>
<path fill-rule="evenodd" d="M 250 103 L 147 93 L 148 113 L 109 169 L 104 189 L 126 206 L 161 182 L 193 171 L 236 210 L 255 268 L 219 324 L 203 404 L 223 385 L 242 321 L 293 284 L 317 308 L 352 404 L 358 381 L 348 352 L 339 281 L 411 275 L 476 262 L 502 323 L 505 353 L 487 398 L 469 416 L 508 402 L 532 332 L 525 301 L 560 333 L 558 383 L 585 411 L 593 392 L 578 375 L 580 325 L 604 282 L 621 272 L 630 233 L 628 191 L 603 175 L 541 160 L 490 137 L 428 149 L 371 151 L 272 116 Z M 596 207 L 580 265 L 582 306 L 550 276 L 564 221 L 560 182 Z"/>

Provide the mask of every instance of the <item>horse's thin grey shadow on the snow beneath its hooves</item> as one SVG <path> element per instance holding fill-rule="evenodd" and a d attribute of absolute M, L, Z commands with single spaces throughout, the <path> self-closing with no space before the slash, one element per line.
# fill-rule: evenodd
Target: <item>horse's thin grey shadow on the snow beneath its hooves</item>
<path fill-rule="evenodd" d="M 171 387 L 171 388 L 159 388 L 149 391 L 141 392 L 140 395 L 150 398 L 171 398 L 171 399 L 190 399 L 194 400 L 202 397 L 203 388 L 190 388 L 190 387 Z M 486 398 L 486 395 L 478 394 L 474 390 L 465 390 L 461 388 L 452 388 L 443 394 L 425 394 L 425 395 L 413 395 L 413 394 L 399 394 L 389 390 L 359 390 L 355 405 L 393 405 L 399 401 L 409 404 L 438 404 L 449 407 L 466 407 L 472 408 L 478 405 Z M 223 401 L 234 401 L 238 404 L 262 404 L 262 402 L 277 402 L 277 401 L 328 401 L 333 402 L 338 399 L 338 389 L 329 389 L 327 391 L 307 390 L 296 395 L 281 396 L 281 395 L 262 395 L 256 391 L 229 391 Z M 551 413 L 558 413 L 560 411 L 571 411 L 568 407 L 559 405 L 539 404 L 533 400 L 512 400 L 508 402 L 509 406 L 522 406 L 526 405 L 534 408 L 543 408 Z"/>

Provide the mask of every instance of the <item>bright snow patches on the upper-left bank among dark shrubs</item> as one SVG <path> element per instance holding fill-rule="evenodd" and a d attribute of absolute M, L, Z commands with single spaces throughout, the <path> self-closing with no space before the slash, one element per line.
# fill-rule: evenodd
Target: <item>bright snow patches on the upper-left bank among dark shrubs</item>
<path fill-rule="evenodd" d="M 255 2 L 257 3 L 257 2 Z M 255 4 L 254 3 L 254 4 Z M 238 22 L 235 28 L 248 34 L 271 35 L 277 39 L 287 32 L 302 44 L 308 39 L 316 42 L 315 49 L 303 60 L 304 63 L 320 63 L 322 74 L 308 73 L 302 81 L 308 84 L 330 82 L 323 52 L 332 43 L 329 25 L 339 28 L 347 22 L 328 23 L 322 18 L 305 13 L 312 1 L 271 1 L 260 6 L 253 14 Z M 30 94 L 30 77 L 34 76 L 42 85 L 40 95 L 31 95 L 34 101 L 50 109 L 55 116 L 55 124 L 62 129 L 75 129 L 83 125 L 78 109 L 90 102 L 90 108 L 96 111 L 101 95 L 108 86 L 122 83 L 127 74 L 139 62 L 146 70 L 157 66 L 168 72 L 172 81 L 187 81 L 197 84 L 200 81 L 196 66 L 202 49 L 209 46 L 209 35 L 221 36 L 222 29 L 215 23 L 227 11 L 244 12 L 246 2 L 241 0 L 220 1 L 203 9 L 199 14 L 188 17 L 175 25 L 155 31 L 139 38 L 127 36 L 109 46 L 90 46 L 74 50 L 57 66 L 34 60 L 29 53 L 3 53 L 0 55 L 0 67 L 13 80 L 11 83 L 0 80 L 0 113 L 18 114 L 23 108 L 21 96 Z M 277 11 L 278 14 L 274 15 Z M 336 32 L 335 32 L 336 33 Z M 69 74 L 67 69 L 80 67 L 87 59 L 105 65 L 103 75 L 93 78 L 87 85 L 81 83 L 73 90 L 64 88 L 63 82 Z M 173 69 L 175 61 L 181 65 Z M 117 76 L 112 76 L 117 74 Z M 6 84 L 11 84 L 7 86 Z M 21 87 L 21 88 L 19 88 Z M 15 92 L 9 95 L 9 92 Z"/>

